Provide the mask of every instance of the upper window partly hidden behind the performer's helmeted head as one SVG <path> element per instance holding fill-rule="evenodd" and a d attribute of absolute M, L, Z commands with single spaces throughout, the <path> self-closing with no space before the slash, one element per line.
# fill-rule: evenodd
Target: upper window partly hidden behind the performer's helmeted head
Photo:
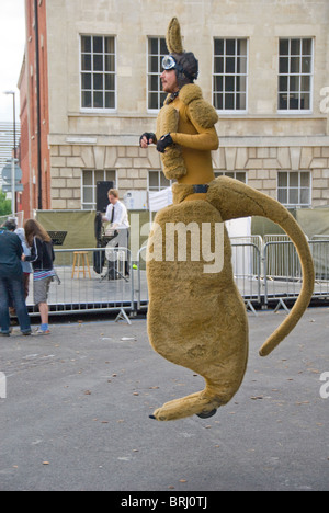
<path fill-rule="evenodd" d="M 147 67 L 147 106 L 149 110 L 159 110 L 163 105 L 167 93 L 162 92 L 160 75 L 161 62 L 164 55 L 169 54 L 164 37 L 148 38 L 148 67 Z"/>

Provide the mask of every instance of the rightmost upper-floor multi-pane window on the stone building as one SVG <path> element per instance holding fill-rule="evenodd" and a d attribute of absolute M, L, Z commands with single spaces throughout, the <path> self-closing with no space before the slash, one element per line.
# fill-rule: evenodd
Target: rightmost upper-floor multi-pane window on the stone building
<path fill-rule="evenodd" d="M 279 111 L 310 111 L 313 39 L 279 42 Z"/>

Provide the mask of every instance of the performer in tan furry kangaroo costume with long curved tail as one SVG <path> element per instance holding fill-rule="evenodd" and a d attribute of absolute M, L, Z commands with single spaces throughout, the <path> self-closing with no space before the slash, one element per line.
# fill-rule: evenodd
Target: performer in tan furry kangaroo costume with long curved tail
<path fill-rule="evenodd" d="M 193 414 L 212 417 L 232 399 L 246 373 L 248 318 L 235 284 L 231 248 L 224 221 L 248 216 L 271 219 L 290 236 L 302 263 L 299 297 L 284 322 L 260 349 L 261 356 L 270 354 L 294 329 L 308 307 L 314 289 L 309 247 L 287 209 L 237 180 L 227 176 L 215 179 L 211 151 L 218 147 L 215 129 L 218 117 L 194 84 L 197 60 L 192 53 L 183 50 L 177 18 L 169 24 L 167 47 L 170 55 L 163 58 L 161 81 L 169 94 L 158 115 L 157 133 L 145 133 L 139 139 L 141 148 L 157 145 L 164 175 L 177 180 L 172 186 L 173 205 L 157 214 L 148 240 L 148 337 L 155 351 L 169 362 L 203 376 L 205 389 L 166 402 L 149 415 L 158 421 Z M 212 272 L 206 267 L 208 259 L 191 256 L 192 236 L 190 242 L 186 241 L 185 261 L 178 259 L 177 239 L 175 259 L 166 258 L 168 248 L 161 241 L 173 224 L 196 226 L 200 231 L 209 226 L 212 248 L 218 243 L 216 227 L 222 226 L 222 267 Z"/>

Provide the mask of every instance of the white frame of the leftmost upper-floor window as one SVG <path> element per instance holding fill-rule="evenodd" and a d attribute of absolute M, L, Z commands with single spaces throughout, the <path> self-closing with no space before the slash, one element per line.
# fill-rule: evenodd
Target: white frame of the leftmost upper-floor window
<path fill-rule="evenodd" d="M 100 54 L 103 56 L 103 60 L 104 60 L 104 56 L 107 55 L 105 54 L 104 52 L 104 41 L 105 38 L 111 38 L 113 39 L 113 44 L 114 44 L 114 71 L 112 72 L 105 72 L 104 69 L 102 72 L 98 72 L 98 73 L 94 73 L 94 70 L 91 69 L 89 71 L 89 75 L 91 75 L 91 79 L 93 79 L 93 76 L 94 75 L 102 75 L 103 76 L 103 81 L 104 81 L 104 76 L 105 75 L 113 75 L 113 79 L 114 79 L 114 91 L 113 90 L 109 90 L 109 91 L 113 91 L 114 92 L 114 107 L 106 107 L 106 106 L 103 106 L 103 107 L 94 107 L 94 106 L 82 106 L 82 93 L 83 93 L 83 89 L 82 89 L 82 73 L 86 73 L 86 70 L 82 69 L 82 54 L 84 54 L 82 52 L 82 37 L 91 37 L 91 39 L 93 39 L 93 37 L 102 37 L 103 38 L 103 53 Z M 87 54 L 87 53 L 86 53 Z M 94 52 L 90 52 L 90 55 L 93 56 L 95 53 Z M 113 55 L 112 53 L 110 53 L 109 55 Z M 91 59 L 92 60 L 92 59 Z M 93 68 L 93 66 L 91 66 L 91 68 Z M 86 73 L 87 75 L 87 73 Z M 103 82 L 104 84 L 104 82 Z M 89 91 L 89 90 L 88 90 Z M 94 93 L 94 91 L 98 91 L 95 89 L 92 88 L 91 86 L 91 94 Z M 106 89 L 103 89 L 102 90 L 103 92 L 103 104 L 104 104 L 104 93 L 106 92 Z M 117 111 L 117 52 L 116 52 L 116 36 L 115 35 L 109 35 L 109 34 L 86 34 L 86 33 L 81 33 L 79 34 L 79 93 L 80 93 L 80 112 L 81 113 L 99 113 L 99 114 L 102 114 L 102 113 L 106 113 L 109 114 L 110 112 L 116 112 Z"/>

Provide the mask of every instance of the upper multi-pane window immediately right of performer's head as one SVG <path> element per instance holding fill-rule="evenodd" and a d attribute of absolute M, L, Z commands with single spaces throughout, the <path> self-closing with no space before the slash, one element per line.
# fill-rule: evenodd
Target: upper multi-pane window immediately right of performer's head
<path fill-rule="evenodd" d="M 214 41 L 214 106 L 218 111 L 247 110 L 247 39 Z"/>

